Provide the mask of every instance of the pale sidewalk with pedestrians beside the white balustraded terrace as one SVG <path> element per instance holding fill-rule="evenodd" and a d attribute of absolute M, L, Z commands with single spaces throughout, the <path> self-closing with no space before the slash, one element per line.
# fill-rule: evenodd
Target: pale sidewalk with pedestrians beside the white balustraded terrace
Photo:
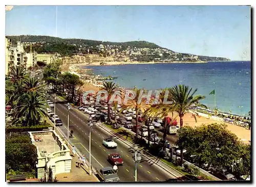
<path fill-rule="evenodd" d="M 72 148 L 70 147 L 70 149 Z M 99 182 L 95 175 L 89 175 L 87 166 L 81 166 L 80 168 L 77 167 L 77 154 L 73 156 L 72 151 L 70 151 L 70 155 L 72 156 L 71 172 L 57 174 L 56 179 L 58 182 Z"/>

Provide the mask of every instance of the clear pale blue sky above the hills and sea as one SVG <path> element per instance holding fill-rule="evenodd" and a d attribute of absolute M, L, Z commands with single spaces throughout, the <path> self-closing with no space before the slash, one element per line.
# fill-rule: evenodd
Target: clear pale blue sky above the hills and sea
<path fill-rule="evenodd" d="M 249 6 L 58 6 L 57 14 L 60 38 L 145 40 L 176 52 L 250 60 Z M 6 12 L 6 35 L 56 36 L 55 21 L 56 6 L 14 6 Z"/>

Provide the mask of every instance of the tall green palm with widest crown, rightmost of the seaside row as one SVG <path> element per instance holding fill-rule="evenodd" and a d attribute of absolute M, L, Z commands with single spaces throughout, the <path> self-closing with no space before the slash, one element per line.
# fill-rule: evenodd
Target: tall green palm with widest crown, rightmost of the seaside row
<path fill-rule="evenodd" d="M 192 88 L 189 89 L 188 86 L 185 85 L 176 85 L 173 88 L 169 89 L 170 95 L 172 96 L 174 111 L 178 113 L 180 117 L 180 128 L 183 127 L 183 116 L 189 112 L 189 108 L 191 106 L 203 106 L 204 108 L 207 108 L 205 105 L 200 103 L 201 99 L 204 99 L 205 96 L 202 95 L 195 95 L 197 92 L 197 89 L 194 91 Z M 197 118 L 196 115 L 193 115 L 196 122 Z M 183 149 L 181 149 L 181 165 L 183 163 Z"/>

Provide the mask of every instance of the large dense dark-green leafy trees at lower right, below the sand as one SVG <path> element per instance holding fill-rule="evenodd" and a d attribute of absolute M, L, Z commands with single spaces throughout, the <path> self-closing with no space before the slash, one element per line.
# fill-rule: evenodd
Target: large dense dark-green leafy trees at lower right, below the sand
<path fill-rule="evenodd" d="M 186 154 L 196 155 L 197 165 L 208 164 L 217 171 L 231 169 L 233 159 L 243 158 L 243 166 L 236 169 L 236 175 L 248 174 L 250 170 L 250 146 L 244 145 L 224 124 L 201 125 L 195 128 L 185 126 L 178 130 L 178 147 Z"/>

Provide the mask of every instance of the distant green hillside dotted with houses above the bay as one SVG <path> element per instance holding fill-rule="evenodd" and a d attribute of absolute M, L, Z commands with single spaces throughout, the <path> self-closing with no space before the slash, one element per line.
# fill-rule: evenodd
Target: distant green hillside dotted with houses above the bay
<path fill-rule="evenodd" d="M 109 42 L 34 35 L 20 35 L 18 37 L 21 42 L 32 44 L 33 50 L 38 53 L 58 52 L 61 56 L 98 54 L 102 57 L 113 57 L 115 60 L 128 58 L 131 61 L 229 61 L 229 59 L 221 57 L 178 53 L 147 41 Z M 7 38 L 12 39 L 13 44 L 17 41 L 17 36 L 7 36 Z M 28 45 L 25 46 L 27 52 L 30 50 Z"/>

